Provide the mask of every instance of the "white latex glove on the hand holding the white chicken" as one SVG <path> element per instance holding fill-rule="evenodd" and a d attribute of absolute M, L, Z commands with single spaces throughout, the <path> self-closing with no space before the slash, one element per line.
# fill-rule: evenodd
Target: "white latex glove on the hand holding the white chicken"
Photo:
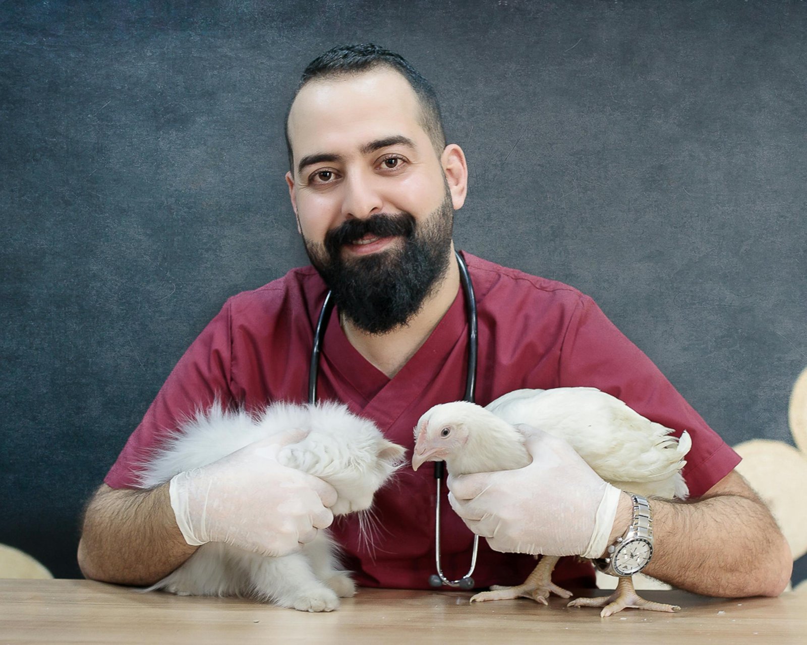
<path fill-rule="evenodd" d="M 532 464 L 449 476 L 449 502 L 495 551 L 598 558 L 608 546 L 621 491 L 563 439 L 529 426 Z"/>

